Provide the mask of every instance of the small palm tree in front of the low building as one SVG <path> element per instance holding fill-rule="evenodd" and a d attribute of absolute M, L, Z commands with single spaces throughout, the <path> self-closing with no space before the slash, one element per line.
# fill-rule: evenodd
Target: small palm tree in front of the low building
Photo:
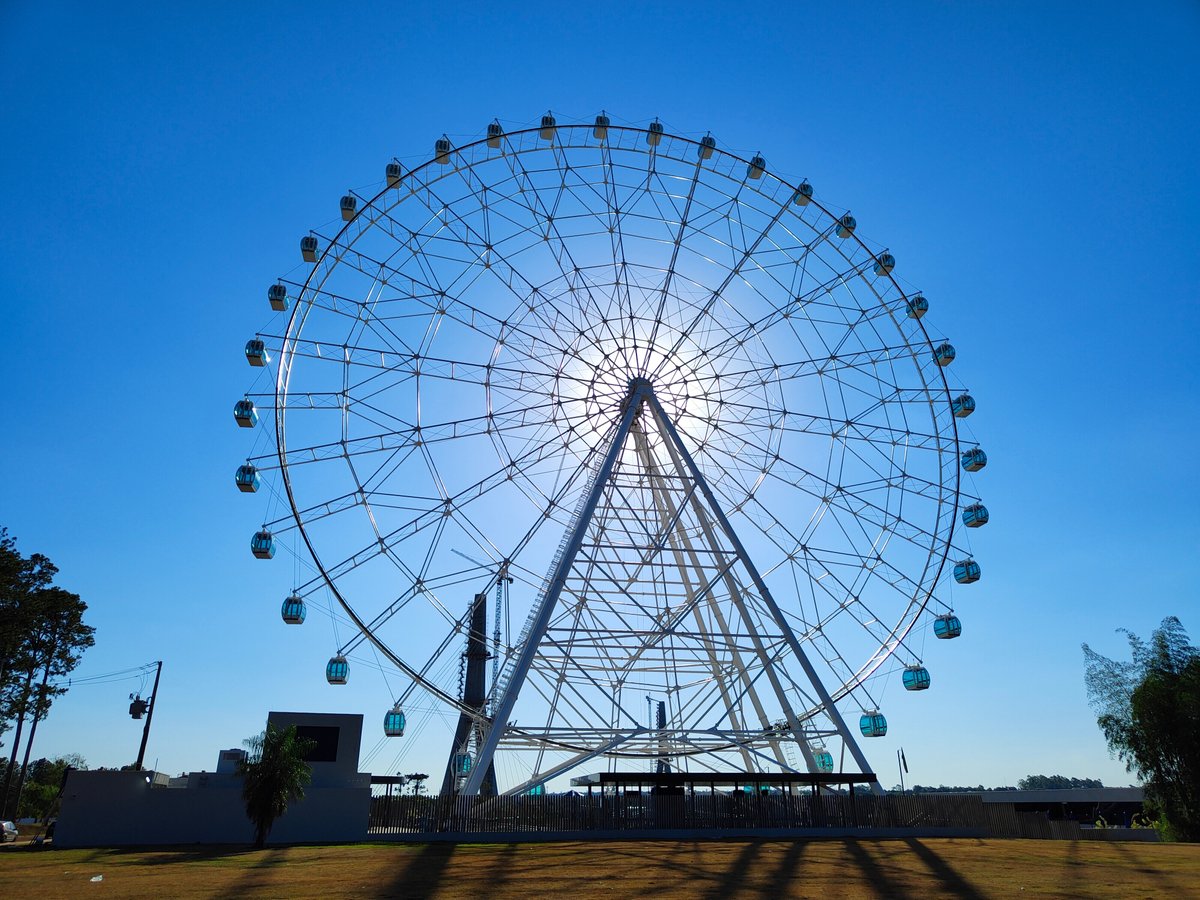
<path fill-rule="evenodd" d="M 246 816 L 254 826 L 254 847 L 262 850 L 266 835 L 288 804 L 304 799 L 304 788 L 312 781 L 308 754 L 314 740 L 296 736 L 296 726 L 277 728 L 268 724 L 260 734 L 247 738 L 250 756 L 238 766 L 242 776 L 241 798 Z"/>

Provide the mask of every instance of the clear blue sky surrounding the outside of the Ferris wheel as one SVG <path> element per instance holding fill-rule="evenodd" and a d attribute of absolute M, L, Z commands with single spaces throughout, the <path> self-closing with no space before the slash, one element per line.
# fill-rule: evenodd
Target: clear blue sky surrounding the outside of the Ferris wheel
<path fill-rule="evenodd" d="M 1127 784 L 1079 646 L 1200 637 L 1200 7 L 504 6 L 0 6 L 0 523 L 89 604 L 80 676 L 166 660 L 148 761 L 212 768 L 268 709 L 362 712 L 371 748 L 388 702 L 280 623 L 232 484 L 241 347 L 299 236 L 443 132 L 604 108 L 809 178 L 958 347 L 985 577 L 868 742 L 884 784 L 900 745 L 920 784 Z M 35 756 L 132 761 L 138 686 L 73 690 Z"/>

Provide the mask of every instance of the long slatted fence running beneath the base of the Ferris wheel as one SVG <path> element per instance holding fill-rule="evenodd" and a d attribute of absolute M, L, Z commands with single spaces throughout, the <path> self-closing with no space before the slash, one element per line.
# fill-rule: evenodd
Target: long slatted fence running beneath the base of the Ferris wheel
<path fill-rule="evenodd" d="M 979 797 L 809 791 L 540 797 L 372 797 L 368 834 L 529 834 L 654 829 L 986 829 Z"/>

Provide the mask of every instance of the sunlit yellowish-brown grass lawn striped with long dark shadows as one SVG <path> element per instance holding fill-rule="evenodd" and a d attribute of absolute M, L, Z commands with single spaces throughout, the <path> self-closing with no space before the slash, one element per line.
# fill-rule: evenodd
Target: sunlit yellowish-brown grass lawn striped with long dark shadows
<path fill-rule="evenodd" d="M 0 896 L 320 895 L 1187 898 L 1200 896 L 1200 847 L 910 839 L 0 852 Z"/>

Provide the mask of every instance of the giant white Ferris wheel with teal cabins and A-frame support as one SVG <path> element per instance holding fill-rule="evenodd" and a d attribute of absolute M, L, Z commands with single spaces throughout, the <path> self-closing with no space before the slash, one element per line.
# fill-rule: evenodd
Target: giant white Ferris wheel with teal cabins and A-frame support
<path fill-rule="evenodd" d="M 398 672 L 389 734 L 440 709 L 443 791 L 871 772 L 988 521 L 892 254 L 762 156 L 604 115 L 443 138 L 341 212 L 235 407 L 271 437 L 238 486 L 284 500 L 252 550 L 313 572 L 284 622 L 353 624 L 328 680 Z"/>

